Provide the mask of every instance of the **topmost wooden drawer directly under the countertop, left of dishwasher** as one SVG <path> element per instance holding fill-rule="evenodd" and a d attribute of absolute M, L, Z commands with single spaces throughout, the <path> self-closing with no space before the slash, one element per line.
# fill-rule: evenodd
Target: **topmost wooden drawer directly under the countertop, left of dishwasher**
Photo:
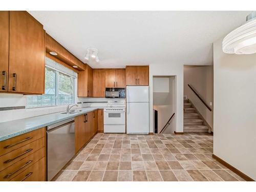
<path fill-rule="evenodd" d="M 24 146 L 32 141 L 45 137 L 45 127 L 28 132 L 0 142 L 0 156 L 7 154 L 16 148 Z"/>

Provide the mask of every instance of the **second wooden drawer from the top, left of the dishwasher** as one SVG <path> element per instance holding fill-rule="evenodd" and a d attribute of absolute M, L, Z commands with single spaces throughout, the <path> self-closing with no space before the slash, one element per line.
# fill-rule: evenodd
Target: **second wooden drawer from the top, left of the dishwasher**
<path fill-rule="evenodd" d="M 45 138 L 42 137 L 32 143 L 29 143 L 25 146 L 17 148 L 16 150 L 5 154 L 0 157 L 0 171 L 11 166 L 12 164 L 20 161 L 21 159 L 27 157 L 28 155 L 36 152 L 40 148 L 45 146 Z"/>

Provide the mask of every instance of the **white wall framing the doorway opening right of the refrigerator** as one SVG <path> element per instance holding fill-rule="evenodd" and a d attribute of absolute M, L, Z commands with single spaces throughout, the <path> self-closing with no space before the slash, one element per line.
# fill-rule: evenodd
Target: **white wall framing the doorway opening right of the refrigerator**
<path fill-rule="evenodd" d="M 150 132 L 153 129 L 153 76 L 176 76 L 176 132 L 183 132 L 183 64 L 150 65 Z"/>

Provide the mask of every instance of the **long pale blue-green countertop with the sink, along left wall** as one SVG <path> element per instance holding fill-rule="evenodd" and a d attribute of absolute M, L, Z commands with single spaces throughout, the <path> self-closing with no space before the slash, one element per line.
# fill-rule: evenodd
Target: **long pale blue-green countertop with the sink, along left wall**
<path fill-rule="evenodd" d="M 97 109 L 103 109 L 103 106 L 92 106 L 80 108 L 83 111 L 75 114 L 61 114 L 63 112 L 40 115 L 25 119 L 17 119 L 0 123 L 0 141 L 28 133 L 41 127 L 48 126 L 72 117 L 89 113 Z"/>

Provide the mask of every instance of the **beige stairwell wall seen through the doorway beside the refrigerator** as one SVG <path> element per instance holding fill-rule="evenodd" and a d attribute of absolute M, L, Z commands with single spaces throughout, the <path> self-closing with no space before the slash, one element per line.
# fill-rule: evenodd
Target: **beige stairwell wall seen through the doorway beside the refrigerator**
<path fill-rule="evenodd" d="M 158 133 L 176 109 L 175 77 L 153 77 L 153 109 L 158 111 Z M 175 117 L 164 133 L 174 133 Z"/>

